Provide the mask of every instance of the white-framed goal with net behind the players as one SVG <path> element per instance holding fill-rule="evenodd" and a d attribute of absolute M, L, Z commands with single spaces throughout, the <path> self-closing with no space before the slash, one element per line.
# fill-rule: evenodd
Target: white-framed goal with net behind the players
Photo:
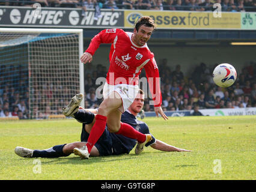
<path fill-rule="evenodd" d="M 82 29 L 0 28 L 2 107 L 18 106 L 29 119 L 62 114 L 70 98 L 84 93 L 82 35 Z"/>

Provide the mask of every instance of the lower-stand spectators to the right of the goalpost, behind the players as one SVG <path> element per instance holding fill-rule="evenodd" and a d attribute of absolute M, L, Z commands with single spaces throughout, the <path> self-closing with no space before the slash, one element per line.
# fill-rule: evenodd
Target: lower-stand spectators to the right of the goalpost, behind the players
<path fill-rule="evenodd" d="M 246 64 L 234 85 L 229 88 L 221 88 L 213 82 L 212 71 L 216 65 L 210 67 L 201 63 L 188 77 L 184 76 L 181 65 L 172 66 L 167 59 L 162 59 L 158 67 L 164 111 L 256 107 L 256 62 Z M 98 77 L 106 77 L 106 72 L 106 67 L 101 64 L 96 67 L 93 64 L 86 65 L 85 107 L 99 107 L 102 98 L 98 100 L 96 97 L 95 82 Z M 140 75 L 142 77 L 146 77 L 144 70 Z M 150 98 L 145 98 L 144 111 L 154 111 Z"/>

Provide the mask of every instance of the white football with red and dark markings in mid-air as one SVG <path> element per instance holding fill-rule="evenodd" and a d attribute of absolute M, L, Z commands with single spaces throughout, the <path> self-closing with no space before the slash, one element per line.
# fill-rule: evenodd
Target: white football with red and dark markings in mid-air
<path fill-rule="evenodd" d="M 222 88 L 227 88 L 236 81 L 236 69 L 230 64 L 219 64 L 213 70 L 213 81 Z"/>

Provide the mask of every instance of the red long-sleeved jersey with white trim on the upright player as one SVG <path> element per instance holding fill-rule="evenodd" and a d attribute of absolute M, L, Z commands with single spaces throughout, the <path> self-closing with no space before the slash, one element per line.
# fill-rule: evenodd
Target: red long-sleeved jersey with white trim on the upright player
<path fill-rule="evenodd" d="M 148 49 L 147 43 L 141 47 L 136 46 L 132 35 L 132 32 L 124 32 L 122 29 L 105 29 L 94 36 L 85 52 L 94 55 L 101 43 L 112 43 L 107 83 L 138 85 L 139 74 L 142 68 L 145 68 L 154 106 L 159 107 L 162 104 L 162 94 L 154 54 Z"/>

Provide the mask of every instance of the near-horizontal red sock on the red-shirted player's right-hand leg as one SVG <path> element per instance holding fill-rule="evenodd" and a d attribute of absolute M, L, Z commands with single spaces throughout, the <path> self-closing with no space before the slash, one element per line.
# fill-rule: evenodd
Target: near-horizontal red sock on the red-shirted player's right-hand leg
<path fill-rule="evenodd" d="M 135 130 L 131 125 L 121 122 L 120 130 L 115 134 L 122 134 L 123 136 L 129 137 L 131 139 L 138 140 L 139 143 L 145 142 L 146 136 L 141 132 Z"/>

